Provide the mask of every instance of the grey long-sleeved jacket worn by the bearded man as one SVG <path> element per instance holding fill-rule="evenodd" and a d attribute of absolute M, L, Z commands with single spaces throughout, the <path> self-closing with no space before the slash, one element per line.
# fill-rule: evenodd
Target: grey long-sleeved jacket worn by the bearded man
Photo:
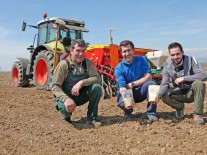
<path fill-rule="evenodd" d="M 207 79 L 206 72 L 204 71 L 202 66 L 197 63 L 194 57 L 184 55 L 183 68 L 184 82 L 194 82 L 195 80 L 205 81 Z M 163 96 L 169 89 L 170 78 L 175 81 L 178 77 L 175 71 L 175 66 L 173 65 L 170 58 L 168 58 L 163 68 L 163 78 L 159 92 L 160 96 Z"/>

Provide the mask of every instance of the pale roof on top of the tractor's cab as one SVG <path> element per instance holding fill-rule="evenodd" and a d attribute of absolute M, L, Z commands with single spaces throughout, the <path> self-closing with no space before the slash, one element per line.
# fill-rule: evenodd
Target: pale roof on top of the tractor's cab
<path fill-rule="evenodd" d="M 64 19 L 59 17 L 53 17 L 53 18 L 46 18 L 44 20 L 41 20 L 37 23 L 39 26 L 40 24 L 47 23 L 47 22 L 54 22 L 56 20 L 63 20 L 65 22 L 64 27 L 72 30 L 80 30 L 84 32 L 88 32 L 89 30 L 85 29 L 85 22 L 84 21 L 76 21 L 76 20 L 70 20 L 70 19 Z"/>

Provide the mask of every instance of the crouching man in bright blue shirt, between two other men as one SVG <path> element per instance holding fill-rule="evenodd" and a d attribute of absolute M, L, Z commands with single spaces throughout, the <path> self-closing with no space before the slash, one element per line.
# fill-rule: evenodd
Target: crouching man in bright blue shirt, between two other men
<path fill-rule="evenodd" d="M 151 70 L 145 57 L 134 56 L 134 44 L 124 40 L 119 45 L 123 60 L 115 68 L 116 82 L 119 87 L 117 104 L 124 111 L 124 118 L 131 118 L 133 107 L 125 107 L 121 93 L 126 89 L 132 89 L 135 103 L 147 99 L 148 86 L 156 85 L 152 81 Z M 157 121 L 156 103 L 147 104 L 147 116 L 150 121 Z"/>

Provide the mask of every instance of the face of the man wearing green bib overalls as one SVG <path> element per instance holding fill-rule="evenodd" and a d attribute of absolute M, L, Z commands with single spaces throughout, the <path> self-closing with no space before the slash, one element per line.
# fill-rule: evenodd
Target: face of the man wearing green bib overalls
<path fill-rule="evenodd" d="M 76 44 L 74 46 L 74 49 L 70 50 L 72 61 L 77 64 L 82 62 L 85 58 L 85 50 L 85 47 L 81 47 Z"/>

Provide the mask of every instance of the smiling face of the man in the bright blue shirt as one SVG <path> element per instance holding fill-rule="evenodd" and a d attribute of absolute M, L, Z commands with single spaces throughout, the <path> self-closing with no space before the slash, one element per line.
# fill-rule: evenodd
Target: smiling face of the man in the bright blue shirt
<path fill-rule="evenodd" d="M 125 61 L 131 63 L 133 61 L 133 56 L 134 56 L 134 49 L 130 45 L 127 46 L 122 46 L 122 57 L 125 59 Z"/>

